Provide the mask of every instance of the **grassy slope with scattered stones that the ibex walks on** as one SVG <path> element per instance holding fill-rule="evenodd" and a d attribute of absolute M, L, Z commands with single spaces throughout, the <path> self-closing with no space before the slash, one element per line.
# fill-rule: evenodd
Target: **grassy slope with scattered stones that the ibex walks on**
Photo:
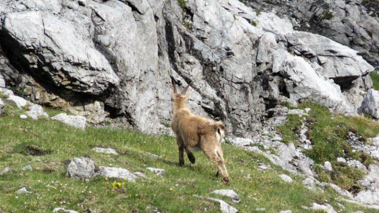
<path fill-rule="evenodd" d="M 328 202 L 339 209 L 333 191 L 309 191 L 300 176 L 291 175 L 295 181 L 286 183 L 278 175 L 290 174 L 275 166 L 273 170 L 260 171 L 257 161 L 268 163 L 264 157 L 229 144 L 223 144 L 230 175 L 230 185 L 226 186 L 221 178 L 214 177 L 216 167 L 200 152 L 195 153 L 195 165 L 189 165 L 186 159 L 184 167 L 177 167 L 177 147 L 172 137 L 94 127 L 80 131 L 49 119 L 22 120 L 18 117 L 21 112 L 23 110 L 7 104 L 5 115 L 0 116 L 0 170 L 7 166 L 15 170 L 0 176 L 0 212 L 51 212 L 56 207 L 64 207 L 79 212 L 143 213 L 152 205 L 166 213 L 197 213 L 204 212 L 205 208 L 216 213 L 220 211 L 219 204 L 204 198 L 219 197 L 210 192 L 225 188 L 235 190 L 240 196 L 239 204 L 227 198 L 223 200 L 241 213 L 255 212 L 256 208 L 265 208 L 269 213 L 282 210 L 303 213 L 301 206 L 309 206 L 311 202 Z M 48 112 L 56 114 L 54 110 Z M 46 154 L 30 155 L 27 146 Z M 114 148 L 121 154 L 96 153 L 90 150 L 94 146 Z M 146 152 L 162 158 L 152 160 Z M 74 157 L 89 157 L 97 165 L 141 171 L 149 178 L 127 182 L 125 192 L 111 186 L 114 180 L 122 182 L 119 179 L 106 181 L 97 177 L 85 182 L 67 178 L 66 165 L 62 161 Z M 22 171 L 26 165 L 31 165 L 33 171 Z M 155 177 L 146 167 L 162 168 L 166 173 L 163 177 Z M 251 174 L 251 178 L 246 178 L 247 174 Z M 33 194 L 16 194 L 21 187 L 27 187 Z M 374 212 L 341 203 L 346 206 L 342 212 Z"/>

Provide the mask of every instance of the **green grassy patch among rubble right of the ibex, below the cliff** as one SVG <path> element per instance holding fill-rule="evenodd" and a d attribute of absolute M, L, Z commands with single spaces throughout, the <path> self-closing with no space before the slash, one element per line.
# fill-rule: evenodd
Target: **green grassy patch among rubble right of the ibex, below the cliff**
<path fill-rule="evenodd" d="M 321 167 L 315 166 L 315 172 L 319 180 L 333 182 L 343 189 L 356 187 L 356 180 L 363 177 L 363 173 L 356 169 L 337 163 L 338 157 L 353 158 L 362 162 L 365 166 L 373 163 L 370 155 L 361 151 L 353 152 L 345 140 L 346 134 L 351 131 L 362 136 L 362 141 L 372 138 L 379 133 L 379 123 L 362 116 L 348 117 L 341 114 L 333 114 L 325 106 L 312 103 L 303 103 L 299 108 L 311 108 L 307 116 L 308 139 L 313 148 L 304 150 L 303 153 L 313 159 L 315 163 L 323 165 L 330 161 L 334 172 L 326 174 Z M 277 127 L 282 134 L 282 142 L 296 142 L 301 122 L 299 116 L 289 114 L 287 122 Z"/>

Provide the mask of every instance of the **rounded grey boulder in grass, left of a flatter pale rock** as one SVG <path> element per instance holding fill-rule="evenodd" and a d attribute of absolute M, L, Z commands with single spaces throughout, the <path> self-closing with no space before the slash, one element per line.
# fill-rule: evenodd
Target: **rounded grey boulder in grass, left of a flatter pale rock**
<path fill-rule="evenodd" d="M 89 158 L 74 158 L 67 167 L 68 177 L 85 179 L 96 176 L 95 164 Z"/>

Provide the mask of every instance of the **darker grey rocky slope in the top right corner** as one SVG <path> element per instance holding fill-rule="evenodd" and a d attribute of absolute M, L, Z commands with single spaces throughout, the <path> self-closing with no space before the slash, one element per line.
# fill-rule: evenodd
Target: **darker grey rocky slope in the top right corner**
<path fill-rule="evenodd" d="M 359 52 L 379 66 L 379 3 L 370 0 L 242 0 L 257 11 L 288 16 L 300 31 L 316 32 Z M 312 43 L 312 42 L 309 42 Z"/>

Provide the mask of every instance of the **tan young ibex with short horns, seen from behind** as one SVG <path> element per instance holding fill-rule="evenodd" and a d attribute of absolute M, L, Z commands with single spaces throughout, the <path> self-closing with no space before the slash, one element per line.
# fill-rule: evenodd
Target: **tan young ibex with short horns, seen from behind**
<path fill-rule="evenodd" d="M 186 96 L 189 85 L 179 94 L 177 93 L 174 79 L 172 83 L 174 86 L 174 91 L 171 91 L 174 116 L 171 121 L 171 128 L 176 135 L 176 142 L 179 148 L 179 166 L 184 165 L 184 150 L 187 152 L 189 161 L 194 164 L 195 157 L 190 148 L 200 148 L 217 165 L 218 171 L 216 176 L 219 176 L 221 173 L 224 182 L 228 183 L 229 176 L 227 175 L 227 168 L 225 167 L 225 160 L 221 149 L 221 140 L 225 136 L 224 123 L 193 114 L 185 106 L 185 102 L 189 99 L 189 95 Z"/>

